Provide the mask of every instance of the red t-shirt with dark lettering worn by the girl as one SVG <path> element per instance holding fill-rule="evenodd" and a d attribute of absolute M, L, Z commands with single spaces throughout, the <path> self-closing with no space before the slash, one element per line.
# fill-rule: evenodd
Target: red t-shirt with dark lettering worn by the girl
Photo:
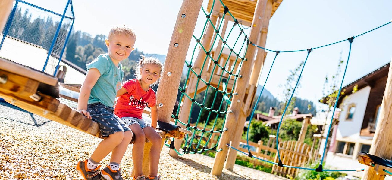
<path fill-rule="evenodd" d="M 142 119 L 143 109 L 147 106 L 155 106 L 156 97 L 154 90 L 150 87 L 147 92 L 144 91 L 136 78 L 123 82 L 122 87 L 127 90 L 127 93 L 119 96 L 114 105 L 114 114 L 116 116 Z"/>

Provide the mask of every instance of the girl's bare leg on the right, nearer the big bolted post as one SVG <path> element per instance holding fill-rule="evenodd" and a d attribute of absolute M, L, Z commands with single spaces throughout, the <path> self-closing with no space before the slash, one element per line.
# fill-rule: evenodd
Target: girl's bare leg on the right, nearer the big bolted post
<path fill-rule="evenodd" d="M 150 176 L 156 177 L 158 176 L 158 165 L 159 158 L 161 155 L 162 137 L 158 133 L 156 133 L 154 128 L 152 128 L 151 126 L 143 128 L 143 131 L 147 139 L 152 144 L 149 154 Z"/>

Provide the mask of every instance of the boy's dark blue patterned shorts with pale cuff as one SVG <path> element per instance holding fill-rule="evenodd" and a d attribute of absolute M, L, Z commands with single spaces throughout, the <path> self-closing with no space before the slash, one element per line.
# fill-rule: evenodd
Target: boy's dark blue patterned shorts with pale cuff
<path fill-rule="evenodd" d="M 131 130 L 120 118 L 114 115 L 113 110 L 113 107 L 107 107 L 99 102 L 87 104 L 87 111 L 90 112 L 93 121 L 98 123 L 102 137 Z"/>

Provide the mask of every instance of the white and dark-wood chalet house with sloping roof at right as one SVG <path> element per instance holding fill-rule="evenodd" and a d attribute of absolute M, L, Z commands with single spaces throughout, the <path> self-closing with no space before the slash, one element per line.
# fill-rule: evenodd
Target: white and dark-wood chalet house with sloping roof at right
<path fill-rule="evenodd" d="M 389 66 L 390 63 L 385 64 L 342 88 L 345 94 L 339 98 L 338 121 L 330 132 L 327 165 L 338 169 L 365 168 L 365 165 L 359 164 L 357 154 L 369 152 L 372 144 Z M 352 175 L 361 176 L 361 173 L 354 172 Z"/>

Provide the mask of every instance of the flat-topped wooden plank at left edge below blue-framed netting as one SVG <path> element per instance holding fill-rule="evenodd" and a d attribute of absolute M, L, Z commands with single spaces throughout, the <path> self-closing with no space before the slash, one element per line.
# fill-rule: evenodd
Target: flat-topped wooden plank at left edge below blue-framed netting
<path fill-rule="evenodd" d="M 48 84 L 51 86 L 57 85 L 57 78 L 47 75 L 41 71 L 34 70 L 28 66 L 23 66 L 22 64 L 17 64 L 8 59 L 0 57 L 0 70 L 8 71 L 17 75 L 31 78 L 38 82 Z"/>

